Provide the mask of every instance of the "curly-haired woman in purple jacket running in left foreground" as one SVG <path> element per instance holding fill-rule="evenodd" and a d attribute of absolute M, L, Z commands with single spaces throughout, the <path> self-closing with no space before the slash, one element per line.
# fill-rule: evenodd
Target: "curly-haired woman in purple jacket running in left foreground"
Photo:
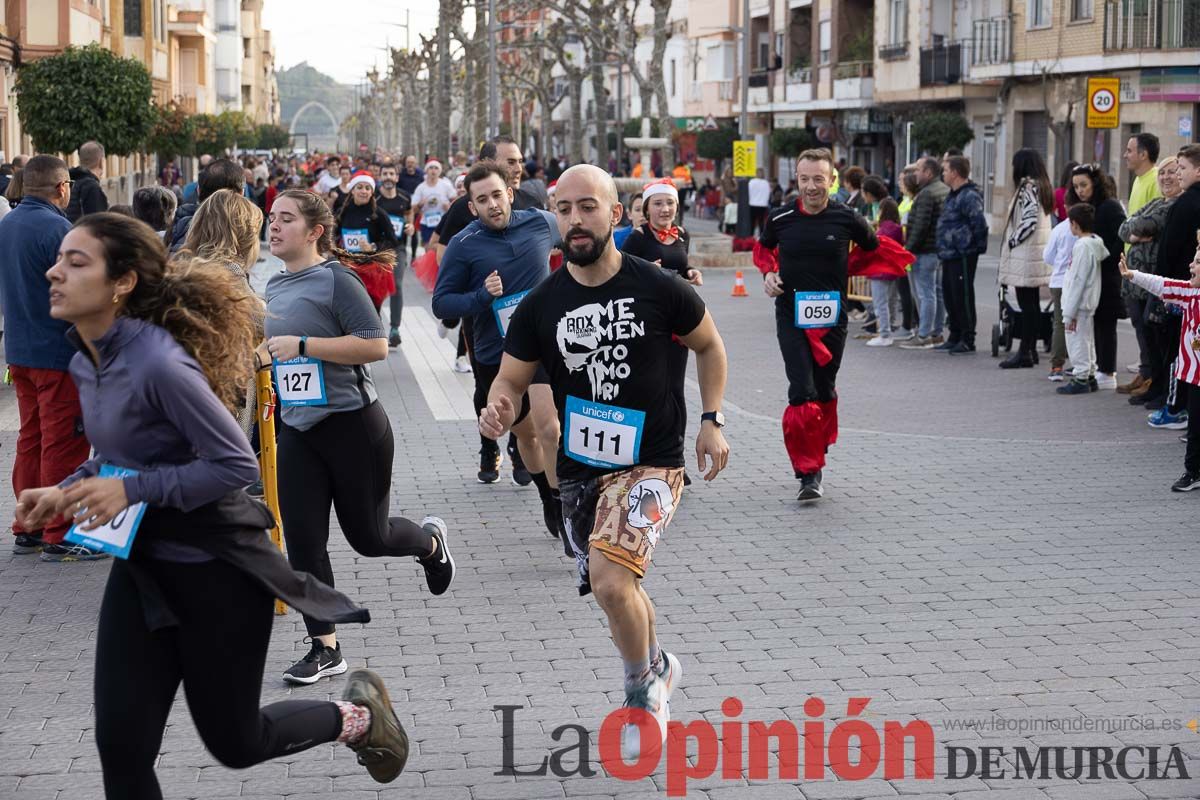
<path fill-rule="evenodd" d="M 154 764 L 180 682 L 227 766 L 336 740 L 377 781 L 394 780 L 408 740 L 373 673 L 350 675 L 343 702 L 259 708 L 274 597 L 324 619 L 370 618 L 292 572 L 263 535 L 270 512 L 244 491 L 258 469 L 233 411 L 254 369 L 262 302 L 221 266 L 168 267 L 157 234 L 113 213 L 80 219 L 47 277 L 50 315 L 74 325 L 71 375 L 96 453 L 60 486 L 22 492 L 17 522 L 36 530 L 68 516 L 121 557 L 96 636 L 107 796 L 162 796 Z M 118 547 L 122 519 L 134 522 Z"/>

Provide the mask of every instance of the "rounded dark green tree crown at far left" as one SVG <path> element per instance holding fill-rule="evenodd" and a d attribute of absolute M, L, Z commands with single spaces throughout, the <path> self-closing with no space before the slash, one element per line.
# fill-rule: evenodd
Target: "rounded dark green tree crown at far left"
<path fill-rule="evenodd" d="M 42 152 L 96 140 L 114 156 L 142 149 L 155 124 L 150 73 L 98 44 L 25 64 L 16 85 L 20 124 Z"/>

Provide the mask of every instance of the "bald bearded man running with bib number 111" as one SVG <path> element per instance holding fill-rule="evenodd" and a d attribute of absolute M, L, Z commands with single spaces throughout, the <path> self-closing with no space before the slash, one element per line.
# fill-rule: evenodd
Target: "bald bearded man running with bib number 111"
<path fill-rule="evenodd" d="M 622 218 L 617 188 L 590 164 L 566 170 L 554 196 L 566 265 L 517 306 L 499 375 L 480 413 L 493 439 L 516 419 L 539 366 L 550 375 L 563 435 L 558 479 L 566 542 L 580 594 L 594 591 L 625 663 L 625 706 L 658 721 L 658 741 L 622 728 L 626 760 L 661 747 L 667 702 L 682 669 L 658 645 L 642 588 L 654 547 L 683 491 L 684 397 L 672 379 L 677 337 L 696 353 L 704 405 L 696 458 L 713 480 L 725 468 L 721 434 L 725 345 L 695 289 L 677 275 L 625 255 L 612 241 Z"/>

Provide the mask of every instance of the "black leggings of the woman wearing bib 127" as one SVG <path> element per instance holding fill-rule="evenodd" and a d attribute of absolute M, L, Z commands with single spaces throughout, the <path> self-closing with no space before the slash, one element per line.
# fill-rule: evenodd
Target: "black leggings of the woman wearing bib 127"
<path fill-rule="evenodd" d="M 430 531 L 412 519 L 389 517 L 391 423 L 379 403 L 330 414 L 308 428 L 283 425 L 280 432 L 280 513 L 288 561 L 334 585 L 329 563 L 329 507 L 346 541 L 360 555 L 428 555 Z M 305 616 L 308 636 L 326 636 L 334 625 Z"/>

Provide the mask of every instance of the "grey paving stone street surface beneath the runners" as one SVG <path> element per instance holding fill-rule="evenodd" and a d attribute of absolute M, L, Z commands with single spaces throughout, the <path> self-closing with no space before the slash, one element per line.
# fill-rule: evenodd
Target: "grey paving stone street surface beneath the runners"
<path fill-rule="evenodd" d="M 994 282 L 985 260 L 984 332 L 996 315 Z M 986 354 L 851 342 L 828 498 L 797 507 L 780 441 L 785 381 L 770 303 L 756 278 L 750 299 L 731 299 L 731 284 L 730 272 L 712 271 L 702 293 L 730 351 L 732 459 L 718 481 L 686 492 L 647 581 L 664 646 L 684 666 L 674 718 L 823 720 L 829 739 L 848 699 L 866 697 L 860 717 L 876 732 L 886 721 L 932 726 L 937 777 L 912 777 L 911 750 L 907 777 L 898 780 L 882 766 L 863 781 L 833 780 L 829 769 L 821 781 L 781 780 L 772 757 L 769 780 L 718 771 L 689 781 L 686 796 L 1200 798 L 1196 778 L 1012 777 L 1019 746 L 1178 746 L 1189 774 L 1200 772 L 1200 734 L 1182 727 L 1200 716 L 1200 498 L 1166 491 L 1181 471 L 1177 434 L 1150 429 L 1111 392 L 1057 397 L 1042 368 L 1008 373 Z M 412 277 L 408 297 L 428 305 Z M 1134 357 L 1128 330 L 1121 355 L 1122 363 Z M 380 787 L 348 750 L 325 745 L 228 770 L 178 703 L 158 762 L 166 796 L 666 796 L 661 765 L 635 782 L 599 765 L 600 722 L 622 699 L 620 662 L 599 609 L 576 596 L 569 564 L 542 531 L 534 491 L 511 486 L 506 474 L 496 486 L 475 483 L 472 426 L 433 420 L 402 354 L 376 377 L 396 432 L 392 507 L 444 516 L 458 561 L 451 591 L 432 597 L 410 560 L 361 559 L 331 540 L 338 587 L 374 618 L 342 628 L 342 646 L 352 666 L 380 672 L 394 687 L 413 738 L 408 769 Z M 11 389 L 0 389 L 4 470 L 13 404 Z M 689 405 L 691 441 L 695 385 Z M 11 517 L 12 498 L 0 500 L 0 513 Z M 8 634 L 0 650 L 0 798 L 102 796 L 91 679 L 108 569 L 0 553 L 0 627 Z M 302 637 L 296 614 L 277 618 L 264 702 L 340 696 L 343 678 L 307 688 L 280 680 L 304 652 Z M 214 642 L 217 663 L 220 652 Z M 740 715 L 722 714 L 727 697 L 740 699 Z M 814 697 L 824 714 L 806 714 Z M 571 734 L 551 739 L 571 723 L 592 732 L 596 775 L 498 775 L 498 705 L 520 706 L 520 769 L 574 742 Z M 1146 723 L 1168 729 L 1138 729 Z M 977 770 L 948 780 L 948 745 L 1003 747 L 998 766 L 1008 776 Z M 850 752 L 857 763 L 857 742 Z M 1134 757 L 1133 769 L 1145 760 Z"/>

